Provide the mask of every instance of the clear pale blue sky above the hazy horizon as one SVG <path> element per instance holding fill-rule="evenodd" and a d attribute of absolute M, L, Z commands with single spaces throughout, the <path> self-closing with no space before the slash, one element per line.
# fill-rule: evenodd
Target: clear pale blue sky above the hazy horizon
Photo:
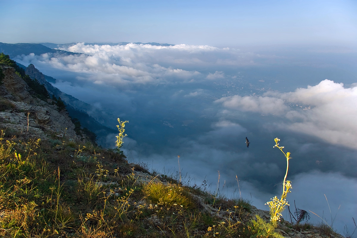
<path fill-rule="evenodd" d="M 342 45 L 357 42 L 357 2 L 3 1 L 0 41 Z M 5 23 L 5 24 L 4 24 Z"/>

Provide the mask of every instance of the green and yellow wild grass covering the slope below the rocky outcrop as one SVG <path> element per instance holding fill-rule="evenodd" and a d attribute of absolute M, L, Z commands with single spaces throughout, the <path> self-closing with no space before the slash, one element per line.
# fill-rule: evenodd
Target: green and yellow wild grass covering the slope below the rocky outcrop
<path fill-rule="evenodd" d="M 0 237 L 281 237 L 247 199 L 161 174 L 141 181 L 147 166 L 115 150 L 10 134 L 0 134 Z"/>

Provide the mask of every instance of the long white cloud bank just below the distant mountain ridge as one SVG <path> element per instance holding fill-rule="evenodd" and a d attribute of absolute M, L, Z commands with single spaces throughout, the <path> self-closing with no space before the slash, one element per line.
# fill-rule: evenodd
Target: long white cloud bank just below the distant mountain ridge
<path fill-rule="evenodd" d="M 30 54 L 17 56 L 15 60 L 24 65 L 34 64 L 40 70 L 50 66 L 57 70 L 85 74 L 82 79 L 96 84 L 125 87 L 223 79 L 223 71 L 209 73 L 207 66 L 236 67 L 251 64 L 247 62 L 259 57 L 235 49 L 185 44 L 153 46 L 129 43 L 110 46 L 77 43 L 60 49 L 82 54 Z"/>

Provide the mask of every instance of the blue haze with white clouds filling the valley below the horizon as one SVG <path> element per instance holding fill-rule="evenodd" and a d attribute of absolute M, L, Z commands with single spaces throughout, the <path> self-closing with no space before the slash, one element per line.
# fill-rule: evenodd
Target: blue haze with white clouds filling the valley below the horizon
<path fill-rule="evenodd" d="M 172 176 L 180 166 L 185 183 L 206 180 L 211 190 L 219 174 L 223 196 L 242 196 L 267 210 L 264 203 L 281 194 L 286 170 L 284 155 L 273 148 L 278 137 L 292 157 L 287 200 L 330 225 L 337 214 L 333 227 L 341 234 L 345 225 L 353 230 L 356 51 L 84 43 L 61 50 L 82 54 L 15 60 L 34 64 L 61 91 L 106 111 L 96 115 L 105 125 L 128 120 L 122 149 L 130 162 Z M 106 135 L 99 143 L 114 147 L 115 140 Z"/>

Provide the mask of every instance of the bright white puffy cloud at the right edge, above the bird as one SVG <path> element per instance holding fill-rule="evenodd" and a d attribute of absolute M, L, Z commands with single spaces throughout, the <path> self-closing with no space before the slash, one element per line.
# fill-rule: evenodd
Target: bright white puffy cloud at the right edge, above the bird
<path fill-rule="evenodd" d="M 286 118 L 280 127 L 315 136 L 333 145 L 357 148 L 357 86 L 323 80 L 294 92 L 231 96 L 216 101 L 226 108 Z M 290 105 L 290 106 L 288 106 Z"/>

